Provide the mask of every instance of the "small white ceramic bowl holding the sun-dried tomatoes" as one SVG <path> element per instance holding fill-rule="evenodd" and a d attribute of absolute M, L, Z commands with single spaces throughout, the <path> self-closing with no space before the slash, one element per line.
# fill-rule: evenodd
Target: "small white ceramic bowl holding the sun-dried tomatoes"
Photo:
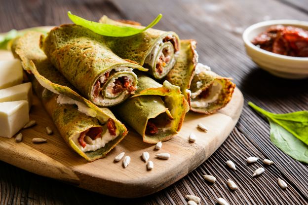
<path fill-rule="evenodd" d="M 251 43 L 257 35 L 265 32 L 272 25 L 295 26 L 308 30 L 308 22 L 297 20 L 264 21 L 248 27 L 243 33 L 243 40 L 248 56 L 260 68 L 273 75 L 289 79 L 303 79 L 308 77 L 308 57 L 292 57 L 272 53 Z"/>

